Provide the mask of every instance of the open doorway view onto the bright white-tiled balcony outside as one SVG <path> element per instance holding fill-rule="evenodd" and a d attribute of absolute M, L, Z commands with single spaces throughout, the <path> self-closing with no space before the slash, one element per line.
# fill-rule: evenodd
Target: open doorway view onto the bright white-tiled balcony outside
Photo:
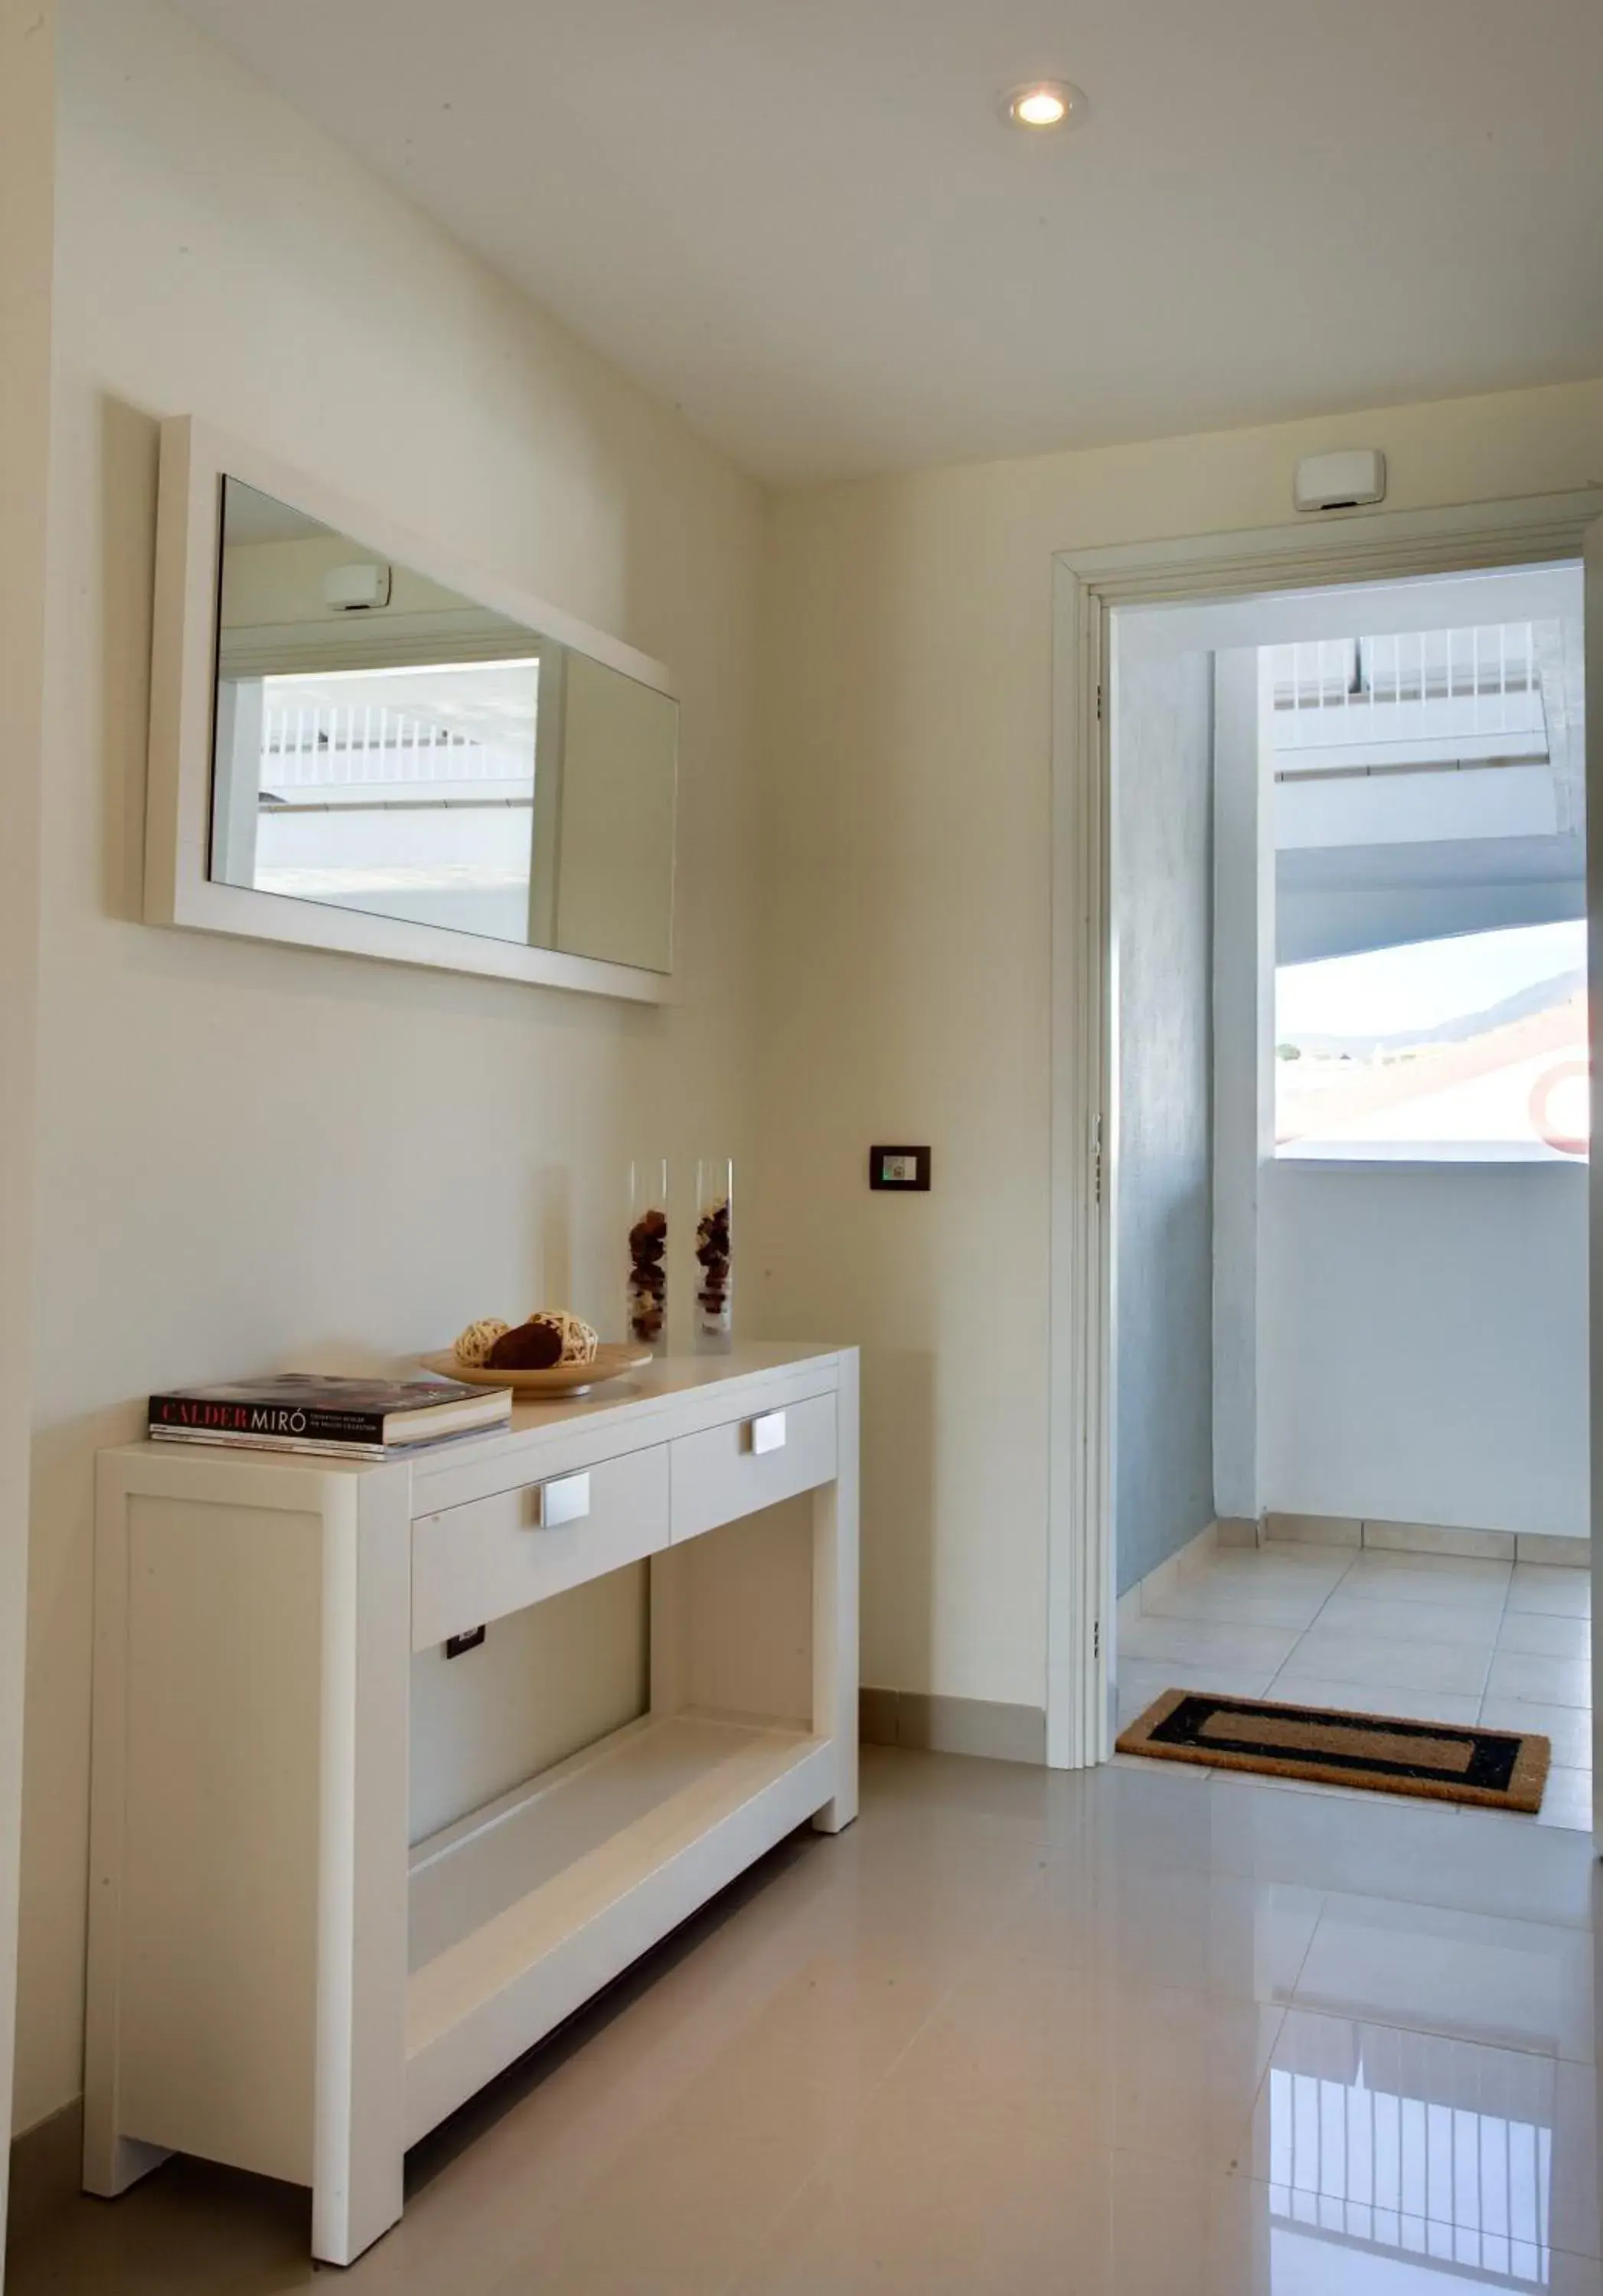
<path fill-rule="evenodd" d="M 1536 1731 L 1589 1825 L 1580 636 L 1578 565 L 1114 615 L 1112 1504 L 1121 1727 Z"/>

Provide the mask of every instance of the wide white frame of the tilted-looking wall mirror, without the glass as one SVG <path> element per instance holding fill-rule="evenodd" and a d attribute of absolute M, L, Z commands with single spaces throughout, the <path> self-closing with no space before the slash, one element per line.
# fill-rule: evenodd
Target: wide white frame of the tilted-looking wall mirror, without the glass
<path fill-rule="evenodd" d="M 494 941 L 446 925 L 413 925 L 216 884 L 207 875 L 211 850 L 211 716 L 216 696 L 216 602 L 223 549 L 223 480 L 239 478 L 335 533 L 351 535 L 395 565 L 413 567 L 480 606 L 491 606 L 544 638 L 604 661 L 677 700 L 659 661 L 590 629 L 572 613 L 547 606 L 514 583 L 468 567 L 450 551 L 409 535 L 381 512 L 289 471 L 241 441 L 225 439 L 193 416 L 161 425 L 161 489 L 156 498 L 156 615 L 149 689 L 149 792 L 145 810 L 145 923 L 188 925 L 198 932 L 289 941 L 342 955 L 384 957 L 390 964 L 429 964 L 452 974 L 491 974 L 540 987 L 668 1003 L 671 974 L 634 964 L 570 957 L 556 948 Z"/>

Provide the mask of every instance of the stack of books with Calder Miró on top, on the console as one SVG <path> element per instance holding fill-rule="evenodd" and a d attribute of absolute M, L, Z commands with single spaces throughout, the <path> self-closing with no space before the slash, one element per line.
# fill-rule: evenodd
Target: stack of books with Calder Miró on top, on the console
<path fill-rule="evenodd" d="M 404 1458 L 420 1444 L 485 1435 L 512 1419 L 508 1387 L 457 1380 L 331 1380 L 280 1371 L 227 1387 L 175 1387 L 149 1398 L 156 1442 L 230 1451 L 322 1451 L 326 1458 Z"/>

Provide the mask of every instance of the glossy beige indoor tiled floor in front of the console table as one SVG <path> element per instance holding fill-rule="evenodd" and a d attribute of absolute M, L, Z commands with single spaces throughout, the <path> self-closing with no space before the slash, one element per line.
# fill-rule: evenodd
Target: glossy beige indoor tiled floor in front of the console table
<path fill-rule="evenodd" d="M 420 2147 L 349 2273 L 170 2161 L 7 2296 L 1603 2296 L 1580 1835 L 1160 1763 L 864 1786 Z"/>

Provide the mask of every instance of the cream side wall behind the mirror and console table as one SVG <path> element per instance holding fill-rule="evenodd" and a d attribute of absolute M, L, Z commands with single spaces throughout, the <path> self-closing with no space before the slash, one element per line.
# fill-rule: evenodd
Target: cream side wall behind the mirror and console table
<path fill-rule="evenodd" d="M 172 1380 L 540 1300 L 618 1329 L 636 1127 L 680 1164 L 756 1137 L 760 491 L 161 0 L 73 0 L 57 211 L 21 2126 L 78 2089 L 96 1444 Z M 135 923 L 188 409 L 673 668 L 671 1013 Z"/>

